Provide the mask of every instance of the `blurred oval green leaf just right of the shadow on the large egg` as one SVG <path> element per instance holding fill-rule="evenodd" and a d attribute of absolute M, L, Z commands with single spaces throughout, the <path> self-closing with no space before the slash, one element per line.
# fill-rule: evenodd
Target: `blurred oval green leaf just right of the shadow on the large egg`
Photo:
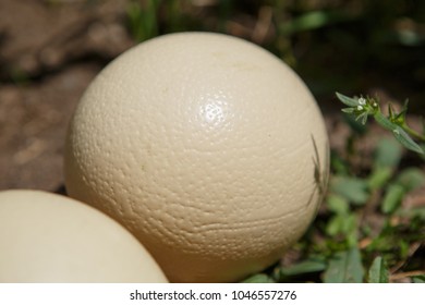
<path fill-rule="evenodd" d="M 330 190 L 355 205 L 367 202 L 367 181 L 355 176 L 335 175 L 330 180 Z"/>

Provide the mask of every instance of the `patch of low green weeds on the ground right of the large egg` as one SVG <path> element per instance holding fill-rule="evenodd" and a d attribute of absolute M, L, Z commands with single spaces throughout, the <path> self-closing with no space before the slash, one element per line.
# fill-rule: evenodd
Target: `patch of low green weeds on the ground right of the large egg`
<path fill-rule="evenodd" d="M 360 119 L 365 120 L 364 114 Z M 351 142 L 363 141 L 367 131 L 350 126 L 357 137 L 349 137 L 347 147 L 356 155 Z M 288 255 L 296 258 L 245 282 L 423 282 L 425 208 L 410 207 L 406 198 L 425 187 L 425 173 L 402 164 L 404 154 L 396 138 L 376 143 L 371 164 L 361 174 L 355 162 L 333 151 L 325 204 Z"/>

